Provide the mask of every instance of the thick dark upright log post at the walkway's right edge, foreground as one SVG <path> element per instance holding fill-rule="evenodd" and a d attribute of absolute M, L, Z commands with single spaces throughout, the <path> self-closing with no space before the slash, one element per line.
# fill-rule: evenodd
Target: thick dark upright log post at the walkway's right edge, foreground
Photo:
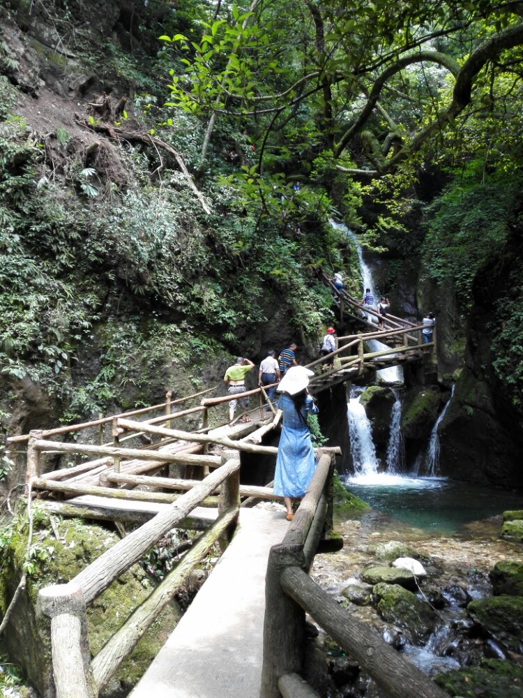
<path fill-rule="evenodd" d="M 274 545 L 268 557 L 265 583 L 264 651 L 260 698 L 280 698 L 278 680 L 283 674 L 300 672 L 305 651 L 305 612 L 280 586 L 288 567 L 303 569 L 303 546 Z"/>

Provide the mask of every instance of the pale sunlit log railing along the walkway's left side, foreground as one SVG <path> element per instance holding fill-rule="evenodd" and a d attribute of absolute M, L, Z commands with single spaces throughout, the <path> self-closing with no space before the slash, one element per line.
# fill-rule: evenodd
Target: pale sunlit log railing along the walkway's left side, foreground
<path fill-rule="evenodd" d="M 229 454 L 228 454 L 229 455 Z M 43 631 L 43 655 L 52 658 L 45 683 L 59 698 L 96 698 L 174 592 L 218 540 L 227 540 L 239 511 L 238 454 L 197 482 L 167 510 L 160 512 L 105 551 L 68 584 L 48 586 L 38 594 L 38 616 Z M 174 569 L 139 606 L 93 658 L 89 655 L 86 608 L 123 572 L 135 565 L 169 530 L 188 517 L 215 489 L 220 488 L 219 516 L 181 558 Z M 47 649 L 47 653 L 45 650 Z"/>

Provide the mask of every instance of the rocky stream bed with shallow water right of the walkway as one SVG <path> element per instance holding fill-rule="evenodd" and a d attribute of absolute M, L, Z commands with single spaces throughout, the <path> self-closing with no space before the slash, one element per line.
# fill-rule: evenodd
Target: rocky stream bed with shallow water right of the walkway
<path fill-rule="evenodd" d="M 344 547 L 318 555 L 312 578 L 425 674 L 439 676 L 449 695 L 520 697 L 522 547 L 501 539 L 501 526 L 494 517 L 434 535 L 370 510 L 336 523 Z M 404 557 L 418 560 L 426 576 L 399 574 L 391 565 Z M 384 696 L 323 631 L 314 645 L 328 656 L 328 671 L 316 678 L 321 695 Z"/>

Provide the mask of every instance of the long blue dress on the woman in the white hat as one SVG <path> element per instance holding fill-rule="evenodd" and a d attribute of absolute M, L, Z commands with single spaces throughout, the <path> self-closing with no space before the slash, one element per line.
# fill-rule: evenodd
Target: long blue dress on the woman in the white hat
<path fill-rule="evenodd" d="M 282 497 L 303 497 L 316 468 L 307 415 L 316 414 L 318 408 L 312 397 L 306 395 L 300 415 L 292 398 L 285 393 L 282 393 L 278 406 L 283 413 L 283 426 L 276 458 L 274 493 Z"/>

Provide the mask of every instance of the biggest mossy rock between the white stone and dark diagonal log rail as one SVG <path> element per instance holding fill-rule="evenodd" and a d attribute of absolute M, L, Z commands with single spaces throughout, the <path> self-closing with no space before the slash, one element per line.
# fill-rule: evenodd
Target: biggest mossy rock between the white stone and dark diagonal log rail
<path fill-rule="evenodd" d="M 399 584 L 377 584 L 372 602 L 381 618 L 402 629 L 412 644 L 423 644 L 434 629 L 437 616 L 429 604 Z"/>

